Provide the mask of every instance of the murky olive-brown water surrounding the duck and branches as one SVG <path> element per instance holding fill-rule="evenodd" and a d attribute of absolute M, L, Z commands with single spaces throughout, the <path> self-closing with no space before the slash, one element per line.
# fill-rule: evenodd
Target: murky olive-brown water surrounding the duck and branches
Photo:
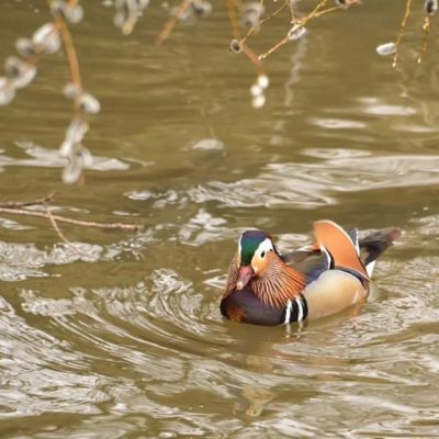
<path fill-rule="evenodd" d="M 74 37 L 103 105 L 86 139 L 95 165 L 60 183 L 68 72 L 48 57 L 0 109 L 0 199 L 56 190 L 60 214 L 145 228 L 63 225 L 78 254 L 48 222 L 0 216 L 1 437 L 438 437 L 436 18 L 416 68 L 413 15 L 395 70 L 374 47 L 394 37 L 401 1 L 318 20 L 267 63 L 256 111 L 223 4 L 158 48 L 159 4 L 122 36 L 112 9 L 82 3 Z M 1 59 L 48 20 L 43 1 L 0 12 Z M 257 47 L 283 31 L 277 20 Z M 239 232 L 294 248 L 324 217 L 405 230 L 376 268 L 376 297 L 300 334 L 223 320 Z"/>

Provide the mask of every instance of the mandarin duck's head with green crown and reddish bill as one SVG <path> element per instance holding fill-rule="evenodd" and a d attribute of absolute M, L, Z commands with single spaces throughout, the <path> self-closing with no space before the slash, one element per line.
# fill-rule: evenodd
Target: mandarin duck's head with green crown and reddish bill
<path fill-rule="evenodd" d="M 243 290 L 254 278 L 263 275 L 273 254 L 275 254 L 273 241 L 266 232 L 244 232 L 236 255 L 238 269 L 236 289 Z"/>

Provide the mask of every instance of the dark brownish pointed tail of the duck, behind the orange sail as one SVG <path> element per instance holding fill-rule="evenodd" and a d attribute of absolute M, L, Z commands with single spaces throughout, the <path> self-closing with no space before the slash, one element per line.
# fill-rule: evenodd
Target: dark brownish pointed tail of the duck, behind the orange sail
<path fill-rule="evenodd" d="M 373 230 L 359 240 L 360 259 L 369 277 L 372 275 L 376 259 L 399 237 L 399 228 L 387 227 L 382 230 Z"/>

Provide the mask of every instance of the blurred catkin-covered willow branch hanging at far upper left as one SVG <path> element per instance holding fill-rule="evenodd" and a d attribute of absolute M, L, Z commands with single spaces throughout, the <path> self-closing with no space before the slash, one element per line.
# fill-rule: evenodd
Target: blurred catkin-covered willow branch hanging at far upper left
<path fill-rule="evenodd" d="M 68 159 L 63 172 L 66 183 L 75 183 L 81 176 L 82 168 L 91 166 L 92 157 L 82 145 L 89 128 L 88 114 L 100 111 L 99 101 L 82 88 L 78 57 L 67 23 L 79 23 L 83 9 L 79 0 L 47 0 L 53 20 L 40 26 L 31 37 L 20 37 L 15 48 L 21 58 L 10 56 L 4 63 L 5 76 L 0 77 L 0 105 L 11 103 L 16 91 L 27 87 L 37 74 L 37 66 L 43 56 L 56 54 L 64 47 L 71 77 L 71 83 L 64 89 L 64 94 L 74 101 L 74 115 L 66 130 L 59 155 Z"/>

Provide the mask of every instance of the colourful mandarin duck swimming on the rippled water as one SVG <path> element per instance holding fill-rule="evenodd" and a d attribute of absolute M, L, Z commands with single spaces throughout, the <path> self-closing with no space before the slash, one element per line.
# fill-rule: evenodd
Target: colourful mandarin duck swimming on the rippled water
<path fill-rule="evenodd" d="M 314 223 L 315 244 L 280 255 L 271 236 L 244 232 L 228 269 L 221 313 L 255 325 L 282 325 L 336 314 L 365 302 L 378 257 L 397 228 L 367 234 L 331 221 Z"/>

